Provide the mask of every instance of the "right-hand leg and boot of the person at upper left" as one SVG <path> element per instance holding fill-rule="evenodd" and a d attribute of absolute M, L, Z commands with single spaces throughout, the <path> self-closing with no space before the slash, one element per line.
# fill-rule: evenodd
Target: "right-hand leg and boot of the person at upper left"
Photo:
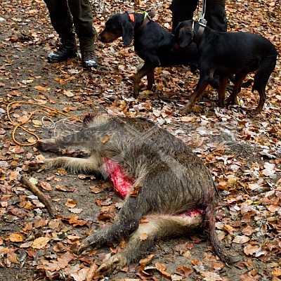
<path fill-rule="evenodd" d="M 93 28 L 93 13 L 89 0 L 68 0 L 68 5 L 79 39 L 83 65 L 96 67 L 98 65 L 94 55 L 96 30 Z"/>

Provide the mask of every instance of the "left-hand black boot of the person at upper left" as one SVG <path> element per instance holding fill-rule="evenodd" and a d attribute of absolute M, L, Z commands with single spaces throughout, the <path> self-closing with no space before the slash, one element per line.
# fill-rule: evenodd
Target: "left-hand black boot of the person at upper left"
<path fill-rule="evenodd" d="M 75 38 L 62 38 L 60 48 L 48 54 L 49 63 L 60 63 L 69 58 L 77 58 L 77 44 Z"/>

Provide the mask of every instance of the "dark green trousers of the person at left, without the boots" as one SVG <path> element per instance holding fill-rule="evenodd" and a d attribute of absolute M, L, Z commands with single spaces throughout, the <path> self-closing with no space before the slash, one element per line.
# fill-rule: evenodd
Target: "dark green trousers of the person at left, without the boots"
<path fill-rule="evenodd" d="M 44 0 L 53 28 L 63 40 L 79 39 L 81 51 L 94 51 L 93 13 L 89 0 Z"/>

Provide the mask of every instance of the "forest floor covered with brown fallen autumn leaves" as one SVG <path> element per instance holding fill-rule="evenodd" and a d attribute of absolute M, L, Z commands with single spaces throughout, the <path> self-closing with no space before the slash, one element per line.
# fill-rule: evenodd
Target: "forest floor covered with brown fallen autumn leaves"
<path fill-rule="evenodd" d="M 136 11 L 155 6 L 155 20 L 171 30 L 169 4 L 141 1 Z M 88 256 L 74 254 L 82 238 L 108 226 L 122 200 L 110 184 L 93 175 L 72 175 L 64 169 L 27 173 L 28 161 L 54 155 L 13 142 L 14 126 L 6 106 L 18 100 L 81 119 L 98 107 L 145 117 L 188 143 L 214 174 L 222 197 L 216 228 L 235 255 L 235 266 L 216 259 L 204 233 L 197 233 L 157 242 L 140 264 L 107 280 L 281 280 L 279 59 L 261 115 L 247 112 L 259 98 L 249 87 L 239 95 L 240 106 L 216 107 L 216 91 L 209 89 L 194 112 L 175 117 L 172 114 L 185 105 L 198 79 L 188 67 L 159 67 L 153 91 L 143 91 L 135 100 L 130 77 L 142 61 L 132 46 L 124 47 L 121 40 L 107 45 L 96 41 L 97 71 L 83 71 L 76 59 L 50 65 L 46 54 L 58 46 L 58 37 L 43 1 L 3 0 L 0 6 L 0 280 L 91 280 L 96 265 L 126 245 L 103 247 Z M 112 13 L 133 8 L 129 1 L 94 1 L 96 30 L 103 29 Z M 229 30 L 262 34 L 280 53 L 280 12 L 277 1 L 228 1 Z M 21 123 L 38 109 L 38 105 L 16 105 L 11 119 Z M 64 122 L 63 115 L 47 116 L 37 112 L 25 127 L 44 138 L 79 126 Z M 18 129 L 15 140 L 30 144 L 36 138 Z M 51 218 L 38 198 L 18 182 L 19 172 L 51 198 L 58 218 Z"/>

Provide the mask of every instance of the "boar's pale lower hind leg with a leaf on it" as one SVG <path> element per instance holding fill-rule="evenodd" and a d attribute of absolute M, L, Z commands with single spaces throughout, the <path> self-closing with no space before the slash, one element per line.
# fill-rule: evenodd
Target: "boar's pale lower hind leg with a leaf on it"
<path fill-rule="evenodd" d="M 202 225 L 202 215 L 181 218 L 179 216 L 145 216 L 145 223 L 131 235 L 126 247 L 119 254 L 111 256 L 100 265 L 96 274 L 110 275 L 113 271 L 121 270 L 124 266 L 138 261 L 147 252 L 155 240 L 171 235 L 184 235 Z"/>

